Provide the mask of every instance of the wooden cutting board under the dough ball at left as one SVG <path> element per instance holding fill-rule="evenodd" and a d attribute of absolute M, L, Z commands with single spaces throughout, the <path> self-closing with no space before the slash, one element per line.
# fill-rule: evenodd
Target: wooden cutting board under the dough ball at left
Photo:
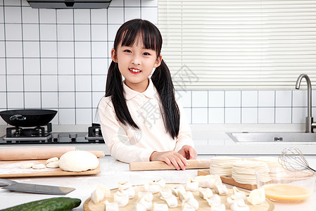
<path fill-rule="evenodd" d="M 84 172 L 66 172 L 61 168 L 44 168 L 42 170 L 21 169 L 20 165 L 23 162 L 34 162 L 34 164 L 46 164 L 46 160 L 10 160 L 0 161 L 0 178 L 13 177 L 53 177 L 53 176 L 80 176 L 99 174 L 101 172 L 100 165 L 95 170 Z"/>

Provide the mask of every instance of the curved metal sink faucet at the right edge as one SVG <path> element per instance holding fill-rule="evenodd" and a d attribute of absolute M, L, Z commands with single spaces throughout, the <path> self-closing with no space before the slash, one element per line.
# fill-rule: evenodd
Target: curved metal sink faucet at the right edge
<path fill-rule="evenodd" d="M 300 89 L 303 77 L 306 79 L 308 84 L 308 116 L 306 117 L 305 132 L 313 133 L 313 129 L 316 128 L 316 122 L 313 122 L 312 120 L 312 84 L 310 83 L 310 77 L 306 74 L 301 74 L 296 80 L 295 89 Z"/>

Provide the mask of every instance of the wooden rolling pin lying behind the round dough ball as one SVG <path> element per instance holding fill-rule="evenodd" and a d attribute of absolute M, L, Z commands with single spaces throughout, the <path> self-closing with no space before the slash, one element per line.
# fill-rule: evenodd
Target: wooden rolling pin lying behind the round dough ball
<path fill-rule="evenodd" d="M 8 148 L 0 150 L 0 160 L 44 160 L 53 157 L 61 158 L 61 155 L 69 151 L 75 151 L 75 147 L 50 147 L 50 148 Z M 96 157 L 102 158 L 103 151 L 89 151 Z"/>

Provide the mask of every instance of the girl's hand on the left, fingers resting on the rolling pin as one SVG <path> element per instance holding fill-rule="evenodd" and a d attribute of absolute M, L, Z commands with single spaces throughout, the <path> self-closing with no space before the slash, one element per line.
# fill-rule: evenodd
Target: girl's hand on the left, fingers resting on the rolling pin
<path fill-rule="evenodd" d="M 188 165 L 187 159 L 175 151 L 166 152 L 153 152 L 151 153 L 150 161 L 163 161 L 168 165 L 173 165 L 177 170 L 185 170 L 185 166 Z"/>

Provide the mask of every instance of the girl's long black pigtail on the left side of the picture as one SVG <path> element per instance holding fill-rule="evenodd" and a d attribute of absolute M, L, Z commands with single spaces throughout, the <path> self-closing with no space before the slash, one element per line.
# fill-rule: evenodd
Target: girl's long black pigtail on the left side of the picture
<path fill-rule="evenodd" d="M 106 97 L 107 96 L 111 97 L 115 115 L 118 117 L 118 120 L 124 125 L 129 124 L 135 129 L 139 129 L 127 108 L 122 84 L 122 75 L 120 74 L 120 70 L 118 70 L 118 63 L 115 63 L 114 61 L 110 63 L 110 67 L 108 68 L 108 77 L 106 79 Z"/>

